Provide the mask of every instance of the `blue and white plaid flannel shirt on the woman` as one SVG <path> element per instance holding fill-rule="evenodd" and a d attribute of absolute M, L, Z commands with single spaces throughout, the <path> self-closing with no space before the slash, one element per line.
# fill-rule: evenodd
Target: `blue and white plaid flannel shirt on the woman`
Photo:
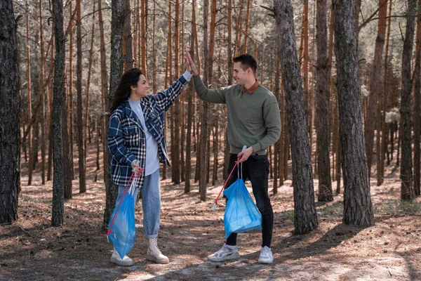
<path fill-rule="evenodd" d="M 158 143 L 159 162 L 168 166 L 171 166 L 171 163 L 166 150 L 163 121 L 165 112 L 173 105 L 185 84 L 187 84 L 185 77 L 180 77 L 165 91 L 140 99 L 145 126 Z M 145 132 L 128 100 L 117 107 L 109 119 L 108 148 L 112 155 L 112 180 L 117 185 L 127 185 L 134 160 L 138 160 L 140 167 L 145 168 L 147 149 Z M 136 188 L 142 187 L 144 179 L 144 174 L 141 174 Z"/>

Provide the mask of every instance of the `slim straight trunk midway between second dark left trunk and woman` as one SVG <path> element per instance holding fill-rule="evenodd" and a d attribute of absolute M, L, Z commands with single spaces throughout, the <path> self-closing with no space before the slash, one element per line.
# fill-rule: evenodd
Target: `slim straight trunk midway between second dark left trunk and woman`
<path fill-rule="evenodd" d="M 77 146 L 79 149 L 79 192 L 86 192 L 85 152 L 83 148 L 83 101 L 82 101 L 82 25 L 81 0 L 76 0 L 76 91 L 77 91 Z"/>

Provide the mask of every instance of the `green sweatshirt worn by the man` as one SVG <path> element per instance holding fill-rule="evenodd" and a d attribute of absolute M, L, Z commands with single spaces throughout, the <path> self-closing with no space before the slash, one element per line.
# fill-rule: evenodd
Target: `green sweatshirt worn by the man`
<path fill-rule="evenodd" d="M 267 148 L 281 136 L 278 101 L 262 85 L 253 93 L 241 91 L 242 87 L 232 85 L 222 89 L 208 89 L 199 75 L 194 76 L 194 88 L 201 100 L 227 105 L 230 152 L 239 154 L 243 145 L 247 145 L 253 148 L 254 155 L 265 155 Z"/>

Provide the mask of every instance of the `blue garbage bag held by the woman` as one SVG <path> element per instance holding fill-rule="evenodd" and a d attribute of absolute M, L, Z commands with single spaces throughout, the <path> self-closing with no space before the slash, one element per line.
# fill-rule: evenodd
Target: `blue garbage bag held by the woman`
<path fill-rule="evenodd" d="M 135 198 L 131 192 L 116 204 L 108 224 L 107 237 L 114 244 L 121 259 L 132 249 L 136 240 Z"/>

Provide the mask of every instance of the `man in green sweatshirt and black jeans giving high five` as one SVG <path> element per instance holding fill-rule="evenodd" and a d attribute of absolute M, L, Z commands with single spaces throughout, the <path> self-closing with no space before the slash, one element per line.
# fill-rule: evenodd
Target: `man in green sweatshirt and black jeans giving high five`
<path fill-rule="evenodd" d="M 194 74 L 194 88 L 201 100 L 210 103 L 225 103 L 228 115 L 228 142 L 230 157 L 228 174 L 233 169 L 237 159 L 243 162 L 243 179 L 248 178 L 253 188 L 256 204 L 262 214 L 262 249 L 259 263 L 273 263 L 272 230 L 274 213 L 270 203 L 268 189 L 269 161 L 266 150 L 278 141 L 281 135 L 281 117 L 276 97 L 264 86 L 260 85 L 256 77 L 258 63 L 249 54 L 234 58 L 235 84 L 222 89 L 208 89 L 187 54 L 189 64 Z M 243 145 L 247 149 L 241 151 Z M 237 169 L 238 166 L 237 166 Z M 227 186 L 236 181 L 237 173 L 232 173 Z M 208 256 L 210 261 L 227 261 L 239 258 L 236 247 L 236 233 L 229 235 L 222 248 Z"/>

